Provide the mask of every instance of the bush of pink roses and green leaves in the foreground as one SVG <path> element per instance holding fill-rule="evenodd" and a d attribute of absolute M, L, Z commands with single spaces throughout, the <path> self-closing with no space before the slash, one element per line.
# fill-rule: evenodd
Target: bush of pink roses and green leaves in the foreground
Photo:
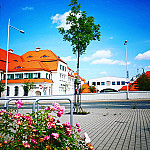
<path fill-rule="evenodd" d="M 18 108 L 24 103 L 16 102 Z M 20 114 L 15 109 L 0 110 L 0 149 L 5 150 L 79 150 L 94 149 L 85 138 L 81 138 L 79 123 L 71 127 L 69 122 L 61 124 L 59 118 L 65 107 L 58 103 L 36 113 Z M 55 114 L 55 115 L 52 115 Z"/>

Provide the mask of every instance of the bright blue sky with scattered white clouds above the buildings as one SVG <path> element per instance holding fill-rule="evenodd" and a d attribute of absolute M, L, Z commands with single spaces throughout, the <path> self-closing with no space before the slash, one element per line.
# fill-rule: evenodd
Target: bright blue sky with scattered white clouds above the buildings
<path fill-rule="evenodd" d="M 80 57 L 79 74 L 89 79 L 115 76 L 129 79 L 150 71 L 150 1 L 149 0 L 78 0 L 81 11 L 100 24 L 101 40 L 92 41 Z M 70 0 L 0 0 L 0 48 L 7 49 L 8 20 L 25 34 L 10 28 L 9 48 L 22 55 L 52 50 L 76 71 L 77 57 L 71 43 L 63 41 L 58 27 L 65 24 Z M 124 42 L 127 40 L 125 49 Z"/>

